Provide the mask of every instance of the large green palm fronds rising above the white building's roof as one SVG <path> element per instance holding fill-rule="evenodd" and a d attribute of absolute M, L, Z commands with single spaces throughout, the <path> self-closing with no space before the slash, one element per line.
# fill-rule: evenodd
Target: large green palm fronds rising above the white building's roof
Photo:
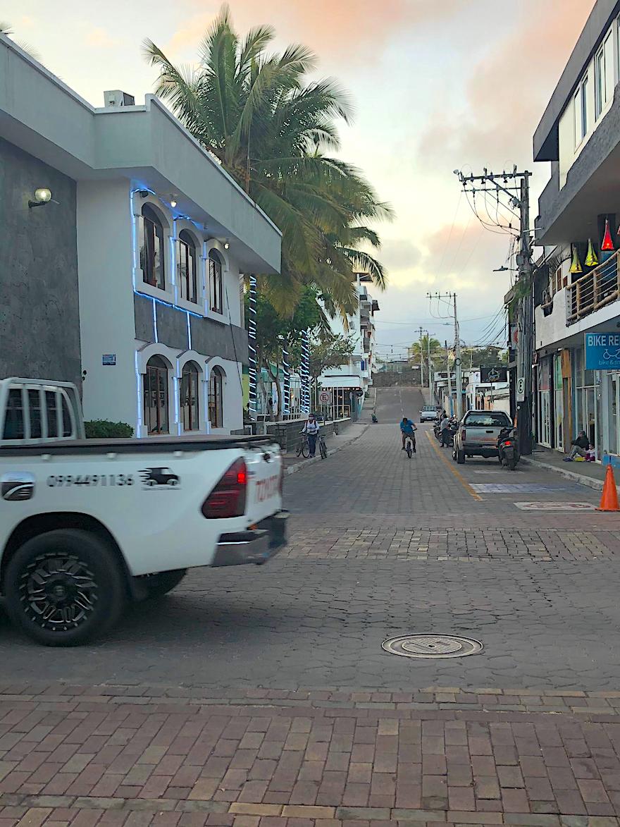
<path fill-rule="evenodd" d="M 197 68 L 175 66 L 152 41 L 145 53 L 160 69 L 156 93 L 283 232 L 281 275 L 260 280 L 261 289 L 290 314 L 313 284 L 327 307 L 351 313 L 354 270 L 385 285 L 364 246 L 379 247 L 367 222 L 390 210 L 359 170 L 328 154 L 339 147 L 336 119 L 351 119 L 346 93 L 332 79 L 306 81 L 316 58 L 304 46 L 268 54 L 273 38 L 270 26 L 258 26 L 241 41 L 225 5 Z"/>

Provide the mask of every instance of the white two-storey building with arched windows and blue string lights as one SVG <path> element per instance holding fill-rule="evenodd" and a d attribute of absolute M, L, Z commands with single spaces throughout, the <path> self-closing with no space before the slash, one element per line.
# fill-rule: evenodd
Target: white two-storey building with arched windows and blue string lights
<path fill-rule="evenodd" d="M 243 277 L 279 272 L 278 228 L 158 98 L 93 108 L 1 36 L 0 76 L 0 139 L 74 182 L 84 418 L 241 429 Z"/>

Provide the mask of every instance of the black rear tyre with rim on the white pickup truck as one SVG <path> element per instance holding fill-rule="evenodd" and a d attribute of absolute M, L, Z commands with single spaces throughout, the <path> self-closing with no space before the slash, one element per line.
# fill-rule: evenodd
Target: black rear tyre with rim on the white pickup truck
<path fill-rule="evenodd" d="M 96 534 L 62 528 L 21 546 L 4 579 L 7 614 L 45 646 L 78 646 L 103 635 L 126 602 L 124 573 Z"/>

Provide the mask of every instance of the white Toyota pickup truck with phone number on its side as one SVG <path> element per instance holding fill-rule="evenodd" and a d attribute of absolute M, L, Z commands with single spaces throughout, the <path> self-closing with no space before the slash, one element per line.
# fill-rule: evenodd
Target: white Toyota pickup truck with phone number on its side
<path fill-rule="evenodd" d="M 0 380 L 0 594 L 37 642 L 84 643 L 188 568 L 286 544 L 272 437 L 83 437 L 74 385 Z"/>

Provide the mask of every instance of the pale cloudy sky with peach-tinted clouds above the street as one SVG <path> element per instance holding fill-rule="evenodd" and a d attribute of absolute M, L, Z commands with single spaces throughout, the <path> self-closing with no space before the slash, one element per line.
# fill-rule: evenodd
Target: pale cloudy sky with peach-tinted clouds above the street
<path fill-rule="evenodd" d="M 428 291 L 458 295 L 461 336 L 485 343 L 501 331 L 509 286 L 493 273 L 510 237 L 481 226 L 453 170 L 534 169 L 532 135 L 594 0 L 231 0 L 236 26 L 268 22 L 279 45 L 316 50 L 320 73 L 351 91 L 355 122 L 341 129 L 342 157 L 360 166 L 396 212 L 379 227 L 390 286 L 379 295 L 379 352 L 402 354 L 422 324 L 451 337 L 445 307 Z M 191 62 L 219 0 L 5 0 L 2 19 L 65 83 L 96 106 L 103 89 L 136 103 L 152 91 L 141 55 L 149 37 Z M 534 198 L 533 215 L 536 215 Z M 492 218 L 495 204 L 488 203 Z M 484 204 L 479 204 L 484 213 Z M 501 218 L 502 213 L 497 215 Z"/>

